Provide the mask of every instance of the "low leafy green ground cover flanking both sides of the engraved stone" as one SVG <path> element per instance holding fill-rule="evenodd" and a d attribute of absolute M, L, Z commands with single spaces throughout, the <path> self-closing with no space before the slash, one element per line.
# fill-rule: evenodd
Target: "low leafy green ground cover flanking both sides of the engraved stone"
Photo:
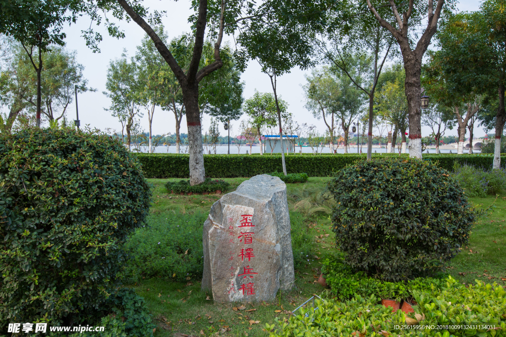
<path fill-rule="evenodd" d="M 155 276 L 175 281 L 200 280 L 203 272 L 202 227 L 207 214 L 164 214 L 149 217 L 124 245 L 129 262 L 124 282 L 133 284 Z M 300 214 L 290 212 L 294 265 L 309 263 L 314 240 Z"/>

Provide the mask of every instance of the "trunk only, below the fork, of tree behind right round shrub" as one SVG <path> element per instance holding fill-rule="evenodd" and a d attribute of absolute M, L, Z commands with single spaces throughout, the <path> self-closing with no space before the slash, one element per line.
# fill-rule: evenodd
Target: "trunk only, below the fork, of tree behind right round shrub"
<path fill-rule="evenodd" d="M 409 122 L 409 157 L 421 159 L 421 59 L 416 58 L 409 46 L 402 48 L 404 59 L 404 81 L 406 99 L 408 101 Z"/>

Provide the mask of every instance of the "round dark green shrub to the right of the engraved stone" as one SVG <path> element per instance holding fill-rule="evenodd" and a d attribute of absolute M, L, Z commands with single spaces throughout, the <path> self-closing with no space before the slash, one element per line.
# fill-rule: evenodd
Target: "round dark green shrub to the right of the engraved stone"
<path fill-rule="evenodd" d="M 386 281 L 441 270 L 469 239 L 477 216 L 437 163 L 381 158 L 339 171 L 328 189 L 345 261 Z"/>

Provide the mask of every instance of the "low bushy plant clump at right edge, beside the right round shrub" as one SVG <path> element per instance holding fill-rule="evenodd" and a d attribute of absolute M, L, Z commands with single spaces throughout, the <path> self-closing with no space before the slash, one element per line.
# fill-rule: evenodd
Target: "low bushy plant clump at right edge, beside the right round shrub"
<path fill-rule="evenodd" d="M 486 169 L 473 165 L 453 166 L 455 178 L 468 197 L 495 196 L 506 189 L 506 169 Z"/>

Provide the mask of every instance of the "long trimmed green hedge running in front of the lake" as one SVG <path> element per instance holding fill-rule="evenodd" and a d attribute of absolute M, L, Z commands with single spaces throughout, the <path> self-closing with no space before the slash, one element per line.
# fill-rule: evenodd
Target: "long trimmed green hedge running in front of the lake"
<path fill-rule="evenodd" d="M 136 154 L 142 164 L 147 178 L 189 178 L 189 155 L 176 154 Z M 373 154 L 379 157 L 379 154 Z M 383 154 L 381 156 L 399 156 Z M 402 154 L 407 157 L 408 155 Z M 493 156 L 487 155 L 424 155 L 424 159 L 438 161 L 438 166 L 452 171 L 453 163 L 470 164 L 490 168 Z M 310 177 L 332 176 L 356 161 L 366 160 L 366 155 L 357 154 L 297 154 L 285 156 L 287 173 L 307 173 Z M 501 155 L 501 166 L 506 162 L 506 155 Z M 205 175 L 213 178 L 252 177 L 257 174 L 282 172 L 280 155 L 204 155 Z"/>

